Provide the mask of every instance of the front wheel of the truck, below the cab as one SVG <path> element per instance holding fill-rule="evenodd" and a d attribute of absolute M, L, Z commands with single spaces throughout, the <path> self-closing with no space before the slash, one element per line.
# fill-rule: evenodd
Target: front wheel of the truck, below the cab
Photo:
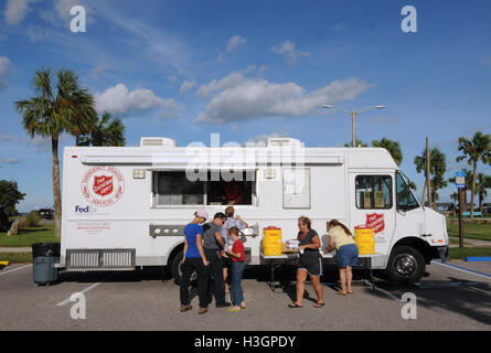
<path fill-rule="evenodd" d="M 425 275 L 426 264 L 421 253 L 410 246 L 397 246 L 391 253 L 387 275 L 399 284 L 414 284 Z"/>

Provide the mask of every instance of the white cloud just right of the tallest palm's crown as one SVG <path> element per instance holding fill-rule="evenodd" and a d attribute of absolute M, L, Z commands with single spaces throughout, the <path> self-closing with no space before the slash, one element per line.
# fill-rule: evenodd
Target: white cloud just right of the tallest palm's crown
<path fill-rule="evenodd" d="M 100 114 L 125 114 L 130 110 L 146 110 L 163 105 L 164 99 L 150 89 L 135 89 L 129 92 L 124 84 L 118 84 L 95 95 L 96 110 Z"/>

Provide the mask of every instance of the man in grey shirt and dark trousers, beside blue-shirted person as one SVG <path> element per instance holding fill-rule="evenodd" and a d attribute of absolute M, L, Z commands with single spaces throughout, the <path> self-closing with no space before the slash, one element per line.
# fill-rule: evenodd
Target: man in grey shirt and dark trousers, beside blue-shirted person
<path fill-rule="evenodd" d="M 220 252 L 224 248 L 225 242 L 222 237 L 222 226 L 225 223 L 225 215 L 221 212 L 215 214 L 213 221 L 203 225 L 203 248 L 206 259 L 212 267 L 211 281 L 209 284 L 210 302 L 215 297 L 216 308 L 226 308 L 231 303 L 225 301 L 225 287 L 223 280 L 223 261 Z M 213 295 L 212 295 L 213 293 Z"/>

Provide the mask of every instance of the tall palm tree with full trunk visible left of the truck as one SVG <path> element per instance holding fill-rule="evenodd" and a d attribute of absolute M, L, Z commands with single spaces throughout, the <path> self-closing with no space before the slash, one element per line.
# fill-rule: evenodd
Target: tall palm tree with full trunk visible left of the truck
<path fill-rule="evenodd" d="M 60 190 L 60 135 L 70 129 L 81 116 L 82 110 L 88 109 L 90 99 L 81 95 L 88 95 L 81 89 L 78 78 L 73 71 L 60 69 L 53 82 L 51 68 L 41 68 L 34 75 L 35 96 L 30 99 L 15 101 L 15 108 L 22 115 L 24 129 L 31 135 L 51 138 L 51 153 L 53 159 L 53 199 L 55 236 L 61 236 L 62 200 Z"/>

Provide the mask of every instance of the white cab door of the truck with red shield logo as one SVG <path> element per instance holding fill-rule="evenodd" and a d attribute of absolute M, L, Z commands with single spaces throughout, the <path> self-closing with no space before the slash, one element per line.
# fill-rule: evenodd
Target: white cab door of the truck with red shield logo
<path fill-rule="evenodd" d="M 395 229 L 394 172 L 350 173 L 350 226 L 375 233 L 375 252 L 388 254 Z"/>

